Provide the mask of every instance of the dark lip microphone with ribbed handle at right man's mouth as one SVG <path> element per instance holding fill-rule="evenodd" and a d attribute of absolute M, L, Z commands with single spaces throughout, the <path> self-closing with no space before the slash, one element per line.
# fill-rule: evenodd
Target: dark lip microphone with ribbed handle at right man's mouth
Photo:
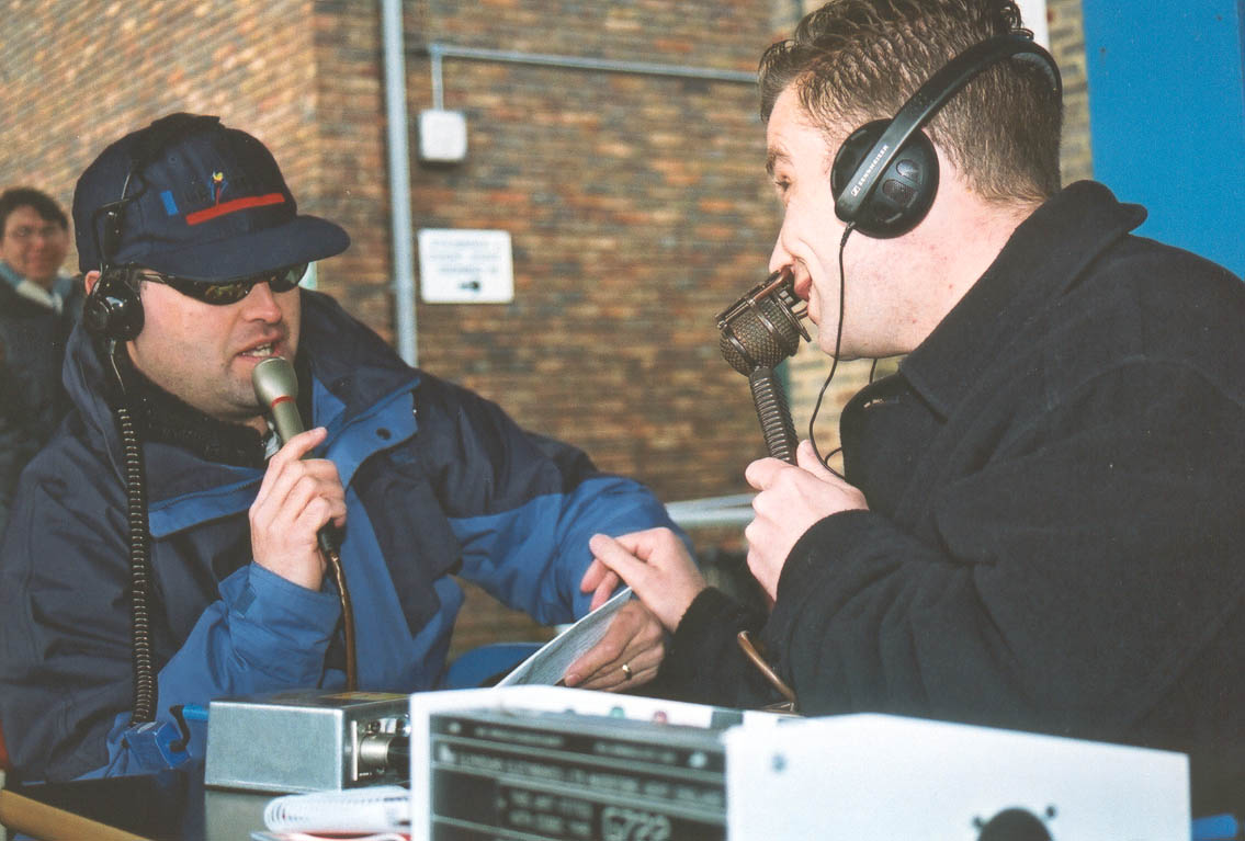
<path fill-rule="evenodd" d="M 769 455 L 796 463 L 796 424 L 773 368 L 808 341 L 801 318 L 808 306 L 796 295 L 791 270 L 779 269 L 717 316 L 718 350 L 748 378 Z"/>

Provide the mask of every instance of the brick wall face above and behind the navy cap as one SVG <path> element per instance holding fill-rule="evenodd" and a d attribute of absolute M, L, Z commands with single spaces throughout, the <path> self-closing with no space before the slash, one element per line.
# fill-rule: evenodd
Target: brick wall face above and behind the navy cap
<path fill-rule="evenodd" d="M 107 143 L 193 111 L 265 141 L 301 207 L 317 211 L 309 17 L 306 0 L 10 0 L 0 184 L 39 187 L 68 210 L 77 175 Z"/>

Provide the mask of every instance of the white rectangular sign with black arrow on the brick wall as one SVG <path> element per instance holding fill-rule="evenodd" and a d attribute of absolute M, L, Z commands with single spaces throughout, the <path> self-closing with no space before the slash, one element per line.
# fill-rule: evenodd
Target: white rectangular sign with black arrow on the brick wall
<path fill-rule="evenodd" d="M 514 300 L 514 254 L 505 230 L 423 228 L 420 294 L 425 304 L 508 304 Z"/>

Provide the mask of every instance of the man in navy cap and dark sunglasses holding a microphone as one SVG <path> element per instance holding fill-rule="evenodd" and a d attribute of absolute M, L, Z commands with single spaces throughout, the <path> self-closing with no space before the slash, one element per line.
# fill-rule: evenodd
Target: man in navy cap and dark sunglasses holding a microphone
<path fill-rule="evenodd" d="M 463 601 L 452 576 L 568 622 L 618 582 L 584 578 L 594 532 L 671 525 L 640 484 L 408 367 L 300 287 L 349 238 L 299 214 L 268 149 L 215 117 L 171 114 L 110 146 L 78 179 L 73 220 L 87 290 L 65 373 L 73 409 L 22 476 L 0 547 L 0 723 L 24 778 L 194 760 L 193 723 L 186 750 L 166 750 L 176 710 L 219 695 L 351 677 L 436 688 Z M 306 428 L 284 443 L 251 382 L 273 357 L 298 374 Z M 326 564 L 339 551 L 354 667 Z M 133 639 L 132 621 L 146 628 Z M 136 690 L 138 637 L 153 693 Z M 660 623 L 632 602 L 565 679 L 641 685 L 662 653 Z"/>

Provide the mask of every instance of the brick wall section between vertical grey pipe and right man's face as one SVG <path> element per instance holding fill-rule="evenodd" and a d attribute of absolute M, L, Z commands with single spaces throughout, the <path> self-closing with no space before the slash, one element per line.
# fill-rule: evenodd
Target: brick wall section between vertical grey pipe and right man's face
<path fill-rule="evenodd" d="M 768 2 L 428 2 L 407 19 L 412 116 L 421 42 L 751 72 Z M 753 86 L 447 58 L 443 87 L 469 152 L 415 168 L 416 226 L 509 231 L 515 291 L 420 304 L 421 365 L 664 499 L 740 489 L 754 420 L 713 315 L 776 230 Z"/>

